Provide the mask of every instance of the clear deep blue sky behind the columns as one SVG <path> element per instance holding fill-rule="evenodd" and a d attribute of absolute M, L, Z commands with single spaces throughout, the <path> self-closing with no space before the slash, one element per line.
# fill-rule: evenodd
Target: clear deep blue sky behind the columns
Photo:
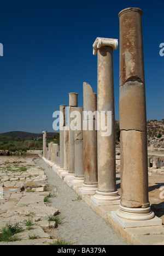
<path fill-rule="evenodd" d="M 79 94 L 83 82 L 97 93 L 96 37 L 119 39 L 119 12 L 143 10 L 147 120 L 163 115 L 164 1 L 1 1 L 0 132 L 54 132 L 52 114 Z M 119 47 L 113 52 L 115 119 L 119 120 Z"/>

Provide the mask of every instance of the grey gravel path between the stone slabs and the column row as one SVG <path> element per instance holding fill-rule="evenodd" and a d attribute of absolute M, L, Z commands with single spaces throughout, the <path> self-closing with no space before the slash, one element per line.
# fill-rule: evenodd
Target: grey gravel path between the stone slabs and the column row
<path fill-rule="evenodd" d="M 82 200 L 77 193 L 58 177 L 50 166 L 40 158 L 35 162 L 45 170 L 51 191 L 56 197 L 51 198 L 50 207 L 60 212 L 63 224 L 58 225 L 56 236 L 61 240 L 73 242 L 75 245 L 107 245 L 126 244 L 105 220 Z"/>

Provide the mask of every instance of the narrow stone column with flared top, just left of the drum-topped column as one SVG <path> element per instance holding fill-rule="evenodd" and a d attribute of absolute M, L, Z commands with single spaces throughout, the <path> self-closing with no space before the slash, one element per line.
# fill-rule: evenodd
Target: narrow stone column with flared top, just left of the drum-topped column
<path fill-rule="evenodd" d="M 64 145 L 64 126 L 66 123 L 66 118 L 65 118 L 65 109 L 66 105 L 60 105 L 60 168 L 63 168 L 64 165 L 64 150 L 63 150 L 63 145 Z"/>

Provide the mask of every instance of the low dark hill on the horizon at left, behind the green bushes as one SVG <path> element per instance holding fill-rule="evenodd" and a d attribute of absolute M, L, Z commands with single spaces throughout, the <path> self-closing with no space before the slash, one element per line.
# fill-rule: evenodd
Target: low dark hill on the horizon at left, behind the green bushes
<path fill-rule="evenodd" d="M 55 132 L 48 132 L 47 136 L 53 136 Z M 43 137 L 43 133 L 32 133 L 32 132 L 25 132 L 25 131 L 9 131 L 0 133 L 2 137 L 14 137 L 14 138 L 33 138 L 34 140 L 38 140 L 38 138 Z"/>

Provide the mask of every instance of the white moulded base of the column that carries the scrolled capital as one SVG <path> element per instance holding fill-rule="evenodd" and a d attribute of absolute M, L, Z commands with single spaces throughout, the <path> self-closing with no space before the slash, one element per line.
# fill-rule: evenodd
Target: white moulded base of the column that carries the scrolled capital
<path fill-rule="evenodd" d="M 113 205 L 120 204 L 120 195 L 118 191 L 114 192 L 99 192 L 96 191 L 94 196 L 91 196 L 91 201 L 96 205 Z"/>

